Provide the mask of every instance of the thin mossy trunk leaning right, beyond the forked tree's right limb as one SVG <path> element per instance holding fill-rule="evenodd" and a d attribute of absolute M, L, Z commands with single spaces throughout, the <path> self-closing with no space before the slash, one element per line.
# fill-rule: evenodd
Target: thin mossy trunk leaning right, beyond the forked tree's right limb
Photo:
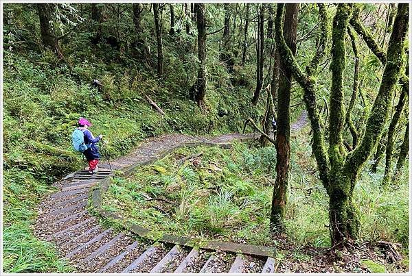
<path fill-rule="evenodd" d="M 399 96 L 398 104 L 396 105 L 396 108 L 395 108 L 396 110 L 395 114 L 393 114 L 391 125 L 389 125 L 388 140 L 387 140 L 387 147 L 386 147 L 385 175 L 382 179 L 381 186 L 389 186 L 391 184 L 393 144 L 395 143 L 395 139 L 393 139 L 393 136 L 395 135 L 396 127 L 398 126 L 398 122 L 400 119 L 400 115 L 402 114 L 402 110 L 404 108 L 407 94 L 408 94 L 408 90 L 402 89 L 402 92 L 400 93 L 400 96 Z"/>

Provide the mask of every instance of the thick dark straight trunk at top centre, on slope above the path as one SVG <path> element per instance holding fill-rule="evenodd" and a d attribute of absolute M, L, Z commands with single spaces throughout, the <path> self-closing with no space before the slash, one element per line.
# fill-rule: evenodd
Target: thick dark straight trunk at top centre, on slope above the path
<path fill-rule="evenodd" d="M 198 68 L 198 77 L 196 84 L 194 85 L 194 90 L 196 93 L 195 101 L 201 108 L 203 108 L 207 84 L 205 4 L 195 3 L 194 7 L 197 16 L 196 23 L 198 30 L 198 59 L 200 61 L 200 66 Z"/>

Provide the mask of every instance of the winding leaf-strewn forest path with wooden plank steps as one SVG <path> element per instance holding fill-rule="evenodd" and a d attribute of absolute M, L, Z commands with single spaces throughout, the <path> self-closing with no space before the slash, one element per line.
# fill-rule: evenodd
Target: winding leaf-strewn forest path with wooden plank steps
<path fill-rule="evenodd" d="M 307 121 L 303 112 L 291 127 L 297 131 Z M 233 140 L 251 139 L 253 134 L 225 134 L 214 138 L 165 134 L 146 140 L 128 155 L 111 162 L 113 170 L 131 173 L 136 166 L 161 158 L 172 149 L 187 145 L 230 146 Z M 196 242 L 174 242 L 174 239 L 149 242 L 130 231 L 105 228 L 95 210 L 88 208 L 93 188 L 113 175 L 108 164 L 89 175 L 77 171 L 54 184 L 59 191 L 48 195 L 38 206 L 34 233 L 38 238 L 56 244 L 78 272 L 83 273 L 273 273 L 277 266 L 268 247 L 211 241 L 207 247 Z M 106 179 L 106 180 L 105 180 Z M 100 185 L 96 185 L 100 184 Z M 93 187 L 95 186 L 95 187 Z M 132 231 L 133 232 L 133 231 Z M 190 244 L 190 245 L 189 245 Z M 239 253 L 253 247 L 256 254 Z M 232 250 L 231 250 L 232 249 Z M 253 251 L 254 250 L 254 251 Z M 259 252 L 257 251 L 259 250 Z M 273 249 L 271 249 L 273 250 Z M 260 252 L 261 251 L 261 252 Z M 242 251 L 243 252 L 243 251 Z"/>

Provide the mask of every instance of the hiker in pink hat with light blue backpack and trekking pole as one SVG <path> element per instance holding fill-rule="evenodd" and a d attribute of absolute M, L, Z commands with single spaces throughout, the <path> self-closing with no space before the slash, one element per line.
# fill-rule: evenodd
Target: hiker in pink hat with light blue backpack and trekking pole
<path fill-rule="evenodd" d="M 91 123 L 89 123 L 86 118 L 80 118 L 78 129 L 83 132 L 84 144 L 87 145 L 87 149 L 83 151 L 83 154 L 89 163 L 89 173 L 93 174 L 98 172 L 98 163 L 100 160 L 99 148 L 96 146 L 96 143 L 102 140 L 103 136 L 100 134 L 95 138 L 89 130 L 89 127 L 91 127 Z"/>

